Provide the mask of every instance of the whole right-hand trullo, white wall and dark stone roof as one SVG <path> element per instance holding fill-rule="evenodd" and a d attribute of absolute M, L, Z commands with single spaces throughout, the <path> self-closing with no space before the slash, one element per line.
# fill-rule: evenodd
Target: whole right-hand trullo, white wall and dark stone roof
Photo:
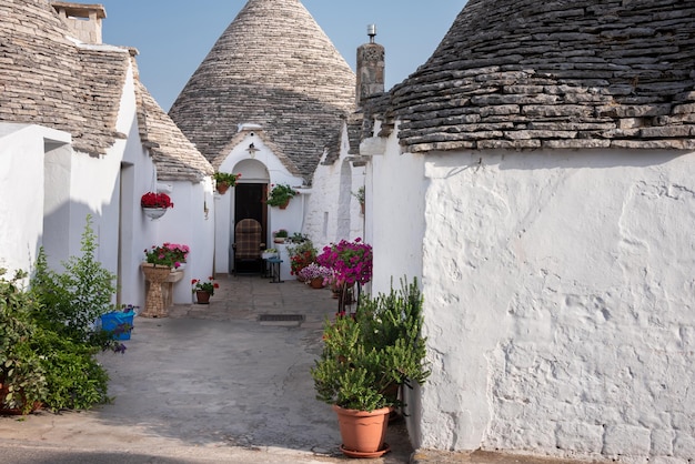
<path fill-rule="evenodd" d="M 470 0 L 374 100 L 374 291 L 417 276 L 416 445 L 695 457 L 695 3 Z"/>

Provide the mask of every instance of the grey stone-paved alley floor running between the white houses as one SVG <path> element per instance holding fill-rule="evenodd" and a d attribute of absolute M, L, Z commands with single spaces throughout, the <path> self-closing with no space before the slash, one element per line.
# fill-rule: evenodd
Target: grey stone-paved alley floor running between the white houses
<path fill-rule="evenodd" d="M 181 462 L 343 461 L 335 415 L 314 399 L 309 372 L 323 321 L 336 310 L 330 290 L 258 275 L 219 275 L 218 282 L 210 305 L 135 317 L 125 354 L 101 356 L 112 404 L 2 417 L 0 446 L 37 443 Z M 262 314 L 304 321 L 261 322 Z M 387 442 L 392 452 L 374 462 L 409 461 L 403 424 L 392 425 Z"/>

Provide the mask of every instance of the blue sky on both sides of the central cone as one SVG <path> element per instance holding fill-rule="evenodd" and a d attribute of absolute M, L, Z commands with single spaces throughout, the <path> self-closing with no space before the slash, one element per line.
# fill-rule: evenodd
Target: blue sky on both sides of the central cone
<path fill-rule="evenodd" d="M 367 42 L 386 48 L 386 89 L 423 64 L 467 0 L 302 0 L 354 70 L 355 50 Z M 101 0 L 103 41 L 140 51 L 140 78 L 169 111 L 198 65 L 245 0 Z"/>

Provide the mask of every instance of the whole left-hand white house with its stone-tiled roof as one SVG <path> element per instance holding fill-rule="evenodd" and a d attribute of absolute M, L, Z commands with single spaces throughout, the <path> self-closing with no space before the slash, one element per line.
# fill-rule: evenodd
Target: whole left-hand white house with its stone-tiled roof
<path fill-rule="evenodd" d="M 99 4 L 0 3 L 0 266 L 30 270 L 43 246 L 62 269 L 91 214 L 118 302 L 142 306 L 145 249 L 183 243 L 187 273 L 212 271 L 213 169 L 140 82 L 137 50 L 102 43 L 104 17 Z M 174 203 L 157 221 L 140 208 L 149 191 Z M 188 303 L 190 288 L 171 296 Z"/>

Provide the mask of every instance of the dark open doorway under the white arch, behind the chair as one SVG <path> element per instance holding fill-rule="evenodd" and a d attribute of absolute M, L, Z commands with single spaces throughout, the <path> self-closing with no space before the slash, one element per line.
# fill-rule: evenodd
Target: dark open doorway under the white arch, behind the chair
<path fill-rule="evenodd" d="M 242 219 L 253 219 L 261 224 L 261 238 L 262 242 L 268 248 L 268 206 L 265 205 L 265 199 L 268 198 L 268 184 L 265 183 L 238 183 L 234 188 L 234 224 L 232 228 L 232 235 L 236 229 L 236 224 Z M 236 239 L 234 238 L 234 241 Z M 253 260 L 236 260 L 234 259 L 234 272 L 235 273 L 258 273 L 263 270 L 263 260 L 260 258 L 256 261 Z"/>

